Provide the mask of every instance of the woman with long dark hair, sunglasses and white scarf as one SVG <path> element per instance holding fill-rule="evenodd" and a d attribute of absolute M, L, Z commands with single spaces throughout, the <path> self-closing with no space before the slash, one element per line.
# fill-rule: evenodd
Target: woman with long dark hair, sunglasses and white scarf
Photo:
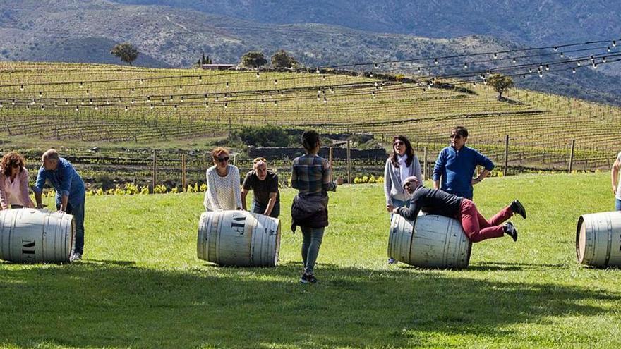
<path fill-rule="evenodd" d="M 406 178 L 415 176 L 419 183 L 423 183 L 421 163 L 414 154 L 414 148 L 407 137 L 397 135 L 392 139 L 392 154 L 386 160 L 384 168 L 384 195 L 386 210 L 390 212 L 395 207 L 409 207 L 410 195 L 405 192 L 403 185 Z M 388 256 L 388 264 L 396 263 L 392 256 Z"/>

